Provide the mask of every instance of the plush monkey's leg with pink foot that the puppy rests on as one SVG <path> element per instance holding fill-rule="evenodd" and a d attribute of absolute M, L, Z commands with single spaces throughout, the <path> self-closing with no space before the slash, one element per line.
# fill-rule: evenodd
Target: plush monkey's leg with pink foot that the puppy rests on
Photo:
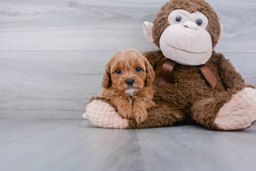
<path fill-rule="evenodd" d="M 176 121 L 182 121 L 183 115 L 173 105 L 156 102 L 147 110 L 147 120 L 137 123 L 133 119 L 124 119 L 116 108 L 106 99 L 94 98 L 86 107 L 86 115 L 89 121 L 98 127 L 103 128 L 152 128 L 172 125 Z"/>

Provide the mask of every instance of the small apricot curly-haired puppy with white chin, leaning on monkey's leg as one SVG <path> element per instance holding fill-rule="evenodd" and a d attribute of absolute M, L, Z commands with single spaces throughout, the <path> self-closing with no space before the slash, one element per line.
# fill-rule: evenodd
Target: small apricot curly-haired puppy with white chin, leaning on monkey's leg
<path fill-rule="evenodd" d="M 147 119 L 152 101 L 155 72 L 136 49 L 119 50 L 106 64 L 100 97 L 110 99 L 120 116 L 137 123 Z"/>

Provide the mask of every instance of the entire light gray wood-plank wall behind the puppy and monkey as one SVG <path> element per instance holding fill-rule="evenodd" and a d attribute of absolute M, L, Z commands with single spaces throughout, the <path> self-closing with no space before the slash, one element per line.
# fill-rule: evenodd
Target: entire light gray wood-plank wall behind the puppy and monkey
<path fill-rule="evenodd" d="M 81 118 L 116 51 L 144 37 L 167 0 L 0 1 L 0 116 Z M 214 49 L 256 85 L 256 2 L 207 0 L 224 25 Z"/>

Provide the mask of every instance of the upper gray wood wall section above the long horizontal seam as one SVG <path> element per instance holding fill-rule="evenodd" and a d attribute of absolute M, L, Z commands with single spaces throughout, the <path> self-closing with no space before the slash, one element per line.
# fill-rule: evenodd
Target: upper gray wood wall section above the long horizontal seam
<path fill-rule="evenodd" d="M 167 0 L 0 1 L 2 51 L 157 49 L 143 34 Z M 207 0 L 224 25 L 220 52 L 256 52 L 254 0 Z"/>

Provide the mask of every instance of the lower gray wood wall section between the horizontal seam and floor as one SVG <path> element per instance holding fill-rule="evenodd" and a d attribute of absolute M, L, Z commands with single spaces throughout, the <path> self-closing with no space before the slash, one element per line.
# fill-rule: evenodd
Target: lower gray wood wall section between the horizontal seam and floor
<path fill-rule="evenodd" d="M 81 118 L 115 52 L 0 52 L 0 116 Z M 225 53 L 256 85 L 256 54 Z"/>

